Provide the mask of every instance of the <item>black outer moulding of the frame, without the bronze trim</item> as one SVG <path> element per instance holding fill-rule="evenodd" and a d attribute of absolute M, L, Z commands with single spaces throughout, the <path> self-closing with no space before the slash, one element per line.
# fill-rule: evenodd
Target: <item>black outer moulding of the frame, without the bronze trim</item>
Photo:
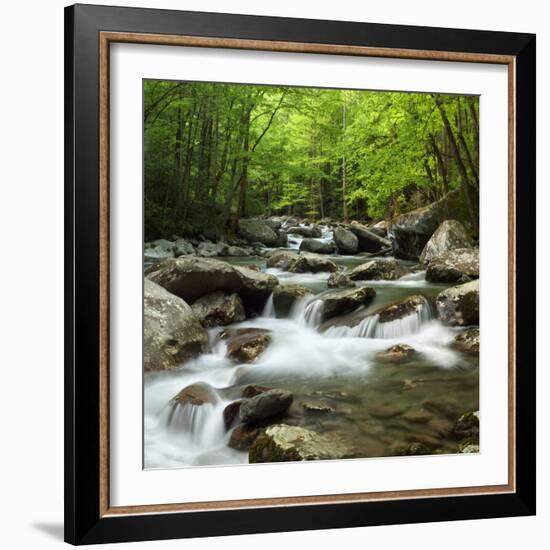
<path fill-rule="evenodd" d="M 100 517 L 100 31 L 515 56 L 515 493 Z M 67 542 L 129 542 L 535 514 L 535 61 L 532 34 L 92 5 L 65 8 Z"/>

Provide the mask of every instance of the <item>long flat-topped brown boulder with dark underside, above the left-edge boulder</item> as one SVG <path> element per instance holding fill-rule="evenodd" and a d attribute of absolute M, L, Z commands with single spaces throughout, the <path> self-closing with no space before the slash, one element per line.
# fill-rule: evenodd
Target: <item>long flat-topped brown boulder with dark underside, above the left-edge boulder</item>
<path fill-rule="evenodd" d="M 252 309 L 262 307 L 279 284 L 273 275 L 193 256 L 156 264 L 147 271 L 147 278 L 189 303 L 222 290 L 236 292 L 245 306 Z"/>

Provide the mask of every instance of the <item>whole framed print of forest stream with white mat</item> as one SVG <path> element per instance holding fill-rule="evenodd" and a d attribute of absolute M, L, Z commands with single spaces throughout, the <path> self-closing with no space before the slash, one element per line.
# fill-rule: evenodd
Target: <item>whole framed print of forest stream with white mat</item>
<path fill-rule="evenodd" d="M 65 12 L 65 538 L 535 513 L 535 36 Z"/>

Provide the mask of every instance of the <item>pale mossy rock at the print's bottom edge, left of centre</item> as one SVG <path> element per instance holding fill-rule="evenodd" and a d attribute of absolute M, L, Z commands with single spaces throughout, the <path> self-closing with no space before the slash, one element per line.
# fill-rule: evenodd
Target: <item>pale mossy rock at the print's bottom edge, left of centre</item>
<path fill-rule="evenodd" d="M 250 463 L 342 459 L 356 456 L 349 441 L 338 433 L 321 434 L 298 426 L 270 426 L 252 444 Z"/>

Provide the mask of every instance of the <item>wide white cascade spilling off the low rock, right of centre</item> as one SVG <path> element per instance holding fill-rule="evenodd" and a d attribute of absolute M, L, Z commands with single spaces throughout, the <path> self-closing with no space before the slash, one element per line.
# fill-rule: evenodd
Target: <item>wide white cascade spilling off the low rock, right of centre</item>
<path fill-rule="evenodd" d="M 430 304 L 428 300 L 426 300 L 422 305 L 417 307 L 415 312 L 405 315 L 401 319 L 381 322 L 379 315 L 370 315 L 354 327 L 330 327 L 325 331 L 325 335 L 331 338 L 355 337 L 395 339 L 419 332 L 422 325 L 430 321 L 432 317 L 433 313 Z"/>

